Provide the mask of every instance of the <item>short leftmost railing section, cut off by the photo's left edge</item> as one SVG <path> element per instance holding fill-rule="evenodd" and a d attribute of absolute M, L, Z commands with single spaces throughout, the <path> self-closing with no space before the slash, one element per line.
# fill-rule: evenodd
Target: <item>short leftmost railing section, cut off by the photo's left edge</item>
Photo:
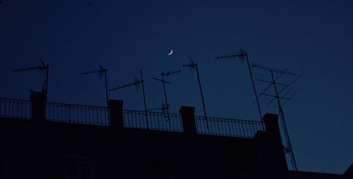
<path fill-rule="evenodd" d="M 0 98 L 0 117 L 30 119 L 31 104 L 23 99 Z"/>

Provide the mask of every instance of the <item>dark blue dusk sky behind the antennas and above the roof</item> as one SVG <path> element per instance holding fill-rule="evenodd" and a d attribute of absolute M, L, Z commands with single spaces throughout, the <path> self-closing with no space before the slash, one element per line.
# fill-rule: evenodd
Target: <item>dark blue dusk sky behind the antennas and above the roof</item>
<path fill-rule="evenodd" d="M 258 120 L 246 63 L 215 60 L 245 49 L 249 60 L 303 74 L 299 92 L 284 107 L 301 171 L 342 173 L 353 161 L 352 1 L 17 1 L 0 5 L 1 97 L 28 99 L 44 74 L 12 68 L 50 64 L 49 99 L 105 106 L 104 79 L 80 75 L 108 69 L 108 86 L 123 85 L 143 70 L 148 108 L 168 101 L 201 111 L 196 74 L 182 64 L 198 62 L 209 116 Z M 167 56 L 174 49 L 172 56 Z M 255 78 L 270 74 L 253 68 Z M 281 78 L 290 82 L 292 77 Z M 258 91 L 264 85 L 256 82 Z M 270 91 L 269 91 L 270 92 Z M 142 90 L 109 93 L 125 109 L 143 110 Z M 261 97 L 263 113 L 270 99 Z M 202 111 L 198 115 L 202 115 Z"/>

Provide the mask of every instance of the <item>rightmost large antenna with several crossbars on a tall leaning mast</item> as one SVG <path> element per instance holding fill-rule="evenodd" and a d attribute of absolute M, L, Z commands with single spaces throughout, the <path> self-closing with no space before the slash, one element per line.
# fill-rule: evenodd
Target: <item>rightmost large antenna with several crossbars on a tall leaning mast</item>
<path fill-rule="evenodd" d="M 285 135 L 285 142 L 286 142 L 286 146 L 283 146 L 283 149 L 285 151 L 285 154 L 289 154 L 289 157 L 290 157 L 290 160 L 291 160 L 291 163 L 292 163 L 292 168 L 294 171 L 297 171 L 298 168 L 297 168 L 297 163 L 294 159 L 294 152 L 293 152 L 293 149 L 292 149 L 292 144 L 290 142 L 290 139 L 289 139 L 289 133 L 288 133 L 288 129 L 287 129 L 287 124 L 286 124 L 286 121 L 285 121 L 285 114 L 283 112 L 283 109 L 282 109 L 282 104 L 281 104 L 281 100 L 289 100 L 291 99 L 291 97 L 294 96 L 294 94 L 296 92 L 294 92 L 294 94 L 292 94 L 291 97 L 282 97 L 280 96 L 280 93 L 283 92 L 287 87 L 289 87 L 290 85 L 292 85 L 292 83 L 296 80 L 299 79 L 299 77 L 295 78 L 289 85 L 286 85 L 286 84 L 282 84 L 280 82 L 277 82 L 277 80 L 282 76 L 282 75 L 295 75 L 294 73 L 289 73 L 287 72 L 287 70 L 276 70 L 274 68 L 267 68 L 267 67 L 264 67 L 264 66 L 258 66 L 254 63 L 251 64 L 253 66 L 253 68 L 261 68 L 261 70 L 265 70 L 265 71 L 268 71 L 271 73 L 271 81 L 268 81 L 268 80 L 259 80 L 261 82 L 266 82 L 268 83 L 269 85 L 265 88 L 265 90 L 263 90 L 263 92 L 261 92 L 261 95 L 265 95 L 265 96 L 269 96 L 269 97 L 273 97 L 273 99 L 277 99 L 277 106 L 278 106 L 278 110 L 279 110 L 279 113 L 280 113 L 280 118 L 281 118 L 281 123 L 282 123 L 282 128 L 283 128 L 283 133 Z M 274 73 L 277 73 L 279 74 L 277 76 L 277 78 L 275 79 L 275 76 L 274 76 Z M 268 88 L 273 85 L 273 88 L 275 89 L 275 94 L 266 94 L 265 91 L 268 90 Z M 278 90 L 277 86 L 282 86 L 282 90 Z M 287 94 L 287 93 L 286 93 Z M 270 101 L 271 103 L 272 101 Z M 270 104 L 269 103 L 269 104 Z M 269 105 L 268 104 L 268 105 Z"/>

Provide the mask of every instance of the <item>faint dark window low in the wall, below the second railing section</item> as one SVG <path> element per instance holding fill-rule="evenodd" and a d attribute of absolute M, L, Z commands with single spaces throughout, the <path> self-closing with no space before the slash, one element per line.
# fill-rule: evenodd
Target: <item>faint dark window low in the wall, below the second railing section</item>
<path fill-rule="evenodd" d="M 66 162 L 67 179 L 94 179 L 94 164 L 86 160 L 70 160 Z"/>

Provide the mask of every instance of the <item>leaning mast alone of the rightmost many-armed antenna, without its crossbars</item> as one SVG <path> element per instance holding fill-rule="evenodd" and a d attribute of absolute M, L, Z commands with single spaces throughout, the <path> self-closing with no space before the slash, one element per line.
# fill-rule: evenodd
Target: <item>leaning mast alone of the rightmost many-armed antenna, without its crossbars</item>
<path fill-rule="evenodd" d="M 280 97 L 278 96 L 275 78 L 273 77 L 273 70 L 271 70 L 271 76 L 272 76 L 272 80 L 273 80 L 273 86 L 275 87 L 275 94 L 276 94 L 275 98 L 277 99 L 278 109 L 280 111 L 280 116 L 282 118 L 283 130 L 285 132 L 285 137 L 286 137 L 286 140 L 287 140 L 287 148 L 288 148 L 287 150 L 289 151 L 289 156 L 290 156 L 290 159 L 291 159 L 293 170 L 294 171 L 298 171 L 297 163 L 296 163 L 296 161 L 294 159 L 294 154 L 293 154 L 293 150 L 292 150 L 292 144 L 291 144 L 291 142 L 289 140 L 289 134 L 288 134 L 288 130 L 287 130 L 287 125 L 285 123 L 285 115 L 283 113 L 282 106 L 281 106 L 281 103 L 280 103 Z"/>

